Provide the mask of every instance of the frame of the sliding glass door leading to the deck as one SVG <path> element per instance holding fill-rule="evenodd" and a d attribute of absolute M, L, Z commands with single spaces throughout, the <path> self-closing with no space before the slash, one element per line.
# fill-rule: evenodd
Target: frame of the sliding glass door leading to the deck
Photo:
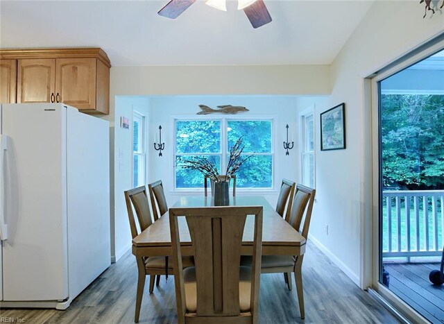
<path fill-rule="evenodd" d="M 380 207 L 379 202 L 381 201 L 382 190 L 381 190 L 381 179 L 382 173 L 380 170 L 381 167 L 381 144 L 380 144 L 380 124 L 379 124 L 379 114 L 380 114 L 380 106 L 379 106 L 379 84 L 382 80 L 393 76 L 393 74 L 406 69 L 407 67 L 424 60 L 425 58 L 433 55 L 434 53 L 444 49 L 444 37 L 437 37 L 435 40 L 432 40 L 431 44 L 425 44 L 420 46 L 418 49 L 412 51 L 404 58 L 393 62 L 388 65 L 386 68 L 378 71 L 366 79 L 366 82 L 370 82 L 370 98 L 371 98 L 371 148 L 372 148 L 372 232 L 373 232 L 373 255 L 372 259 L 372 271 L 371 271 L 371 284 L 370 289 L 373 289 L 377 293 L 379 293 L 382 298 L 385 298 L 388 302 L 390 302 L 395 309 L 402 313 L 402 315 L 407 316 L 409 320 L 416 321 L 418 323 L 429 323 L 424 317 L 422 317 L 418 312 L 413 310 L 406 302 L 401 300 L 398 296 L 395 295 L 392 291 L 390 291 L 387 287 L 384 286 L 381 282 L 379 282 L 379 268 L 380 263 L 382 262 L 380 256 Z M 368 83 L 367 83 L 368 84 Z M 366 265 L 366 250 L 363 250 L 364 253 L 364 266 Z M 368 273 L 367 275 L 370 275 Z M 370 279 L 370 278 L 367 278 Z M 363 279 L 364 282 L 366 278 Z"/>

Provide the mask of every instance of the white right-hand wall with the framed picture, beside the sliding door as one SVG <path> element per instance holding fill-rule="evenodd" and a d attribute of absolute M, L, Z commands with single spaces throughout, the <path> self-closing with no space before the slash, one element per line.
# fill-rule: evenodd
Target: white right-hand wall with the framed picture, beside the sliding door
<path fill-rule="evenodd" d="M 368 244 L 361 224 L 371 217 L 370 119 L 364 109 L 364 78 L 443 33 L 443 14 L 422 19 L 423 10 L 417 1 L 375 1 L 333 62 L 327 107 L 316 106 L 318 116 L 345 102 L 347 148 L 323 152 L 316 148 L 317 203 L 311 238 L 357 284 L 364 271 L 361 240 Z"/>

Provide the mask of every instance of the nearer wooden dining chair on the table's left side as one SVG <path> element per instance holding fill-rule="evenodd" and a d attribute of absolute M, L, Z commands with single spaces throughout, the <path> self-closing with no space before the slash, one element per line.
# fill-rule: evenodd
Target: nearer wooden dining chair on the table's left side
<path fill-rule="evenodd" d="M 146 230 L 152 223 L 151 213 L 148 205 L 148 196 L 146 194 L 145 186 L 137 187 L 124 191 L 126 209 L 128 210 L 128 219 L 130 221 L 131 236 L 133 239 L 140 234 L 140 232 Z M 139 223 L 139 229 L 137 229 L 135 215 L 137 217 L 137 222 Z M 155 276 L 160 278 L 160 275 L 164 275 L 165 272 L 173 274 L 172 262 L 169 262 L 167 266 L 165 262 L 165 257 L 136 257 L 138 278 L 137 278 L 137 294 L 136 294 L 136 310 L 135 310 L 135 322 L 139 321 L 140 305 L 142 305 L 142 296 L 145 287 L 146 275 L 150 276 L 150 287 L 149 292 L 153 293 Z M 192 266 L 194 262 L 191 257 L 184 257 L 182 261 L 182 266 Z M 167 270 L 166 270 L 167 268 Z M 158 282 L 157 282 L 158 284 Z"/>

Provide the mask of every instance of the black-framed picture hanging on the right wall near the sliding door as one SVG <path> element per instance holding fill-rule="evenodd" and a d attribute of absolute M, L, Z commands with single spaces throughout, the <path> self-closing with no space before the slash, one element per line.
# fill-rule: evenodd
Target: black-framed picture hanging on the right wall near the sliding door
<path fill-rule="evenodd" d="M 345 103 L 321 114 L 321 151 L 345 148 Z"/>

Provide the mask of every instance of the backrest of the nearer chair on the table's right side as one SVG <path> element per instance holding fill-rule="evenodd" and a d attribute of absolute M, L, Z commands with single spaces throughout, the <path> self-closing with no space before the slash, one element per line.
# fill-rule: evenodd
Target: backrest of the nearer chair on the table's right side
<path fill-rule="evenodd" d="M 296 186 L 296 194 L 293 199 L 289 223 L 295 230 L 300 232 L 305 239 L 308 237 L 315 194 L 315 189 L 303 185 Z"/>

